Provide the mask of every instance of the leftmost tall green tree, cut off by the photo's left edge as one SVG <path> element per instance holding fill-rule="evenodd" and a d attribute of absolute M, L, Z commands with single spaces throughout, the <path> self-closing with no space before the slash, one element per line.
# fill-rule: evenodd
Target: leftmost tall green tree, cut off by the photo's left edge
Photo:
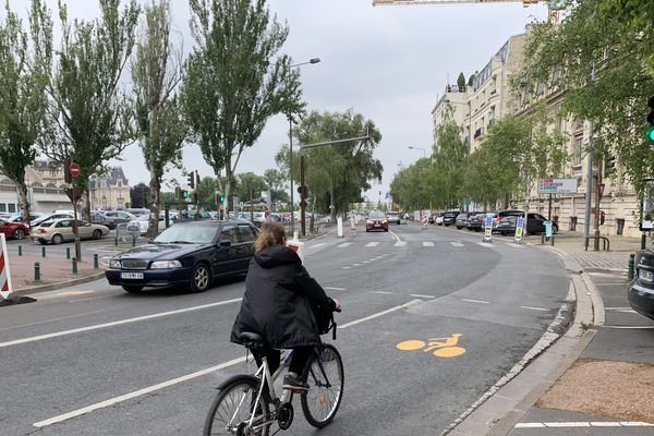
<path fill-rule="evenodd" d="M 25 167 L 37 156 L 35 144 L 45 117 L 47 70 L 28 50 L 27 33 L 9 2 L 5 13 L 4 23 L 0 22 L 0 171 L 15 183 L 23 221 L 29 222 Z M 44 14 L 43 7 L 33 2 L 31 14 Z M 40 44 L 46 29 L 31 29 L 33 44 Z"/>

